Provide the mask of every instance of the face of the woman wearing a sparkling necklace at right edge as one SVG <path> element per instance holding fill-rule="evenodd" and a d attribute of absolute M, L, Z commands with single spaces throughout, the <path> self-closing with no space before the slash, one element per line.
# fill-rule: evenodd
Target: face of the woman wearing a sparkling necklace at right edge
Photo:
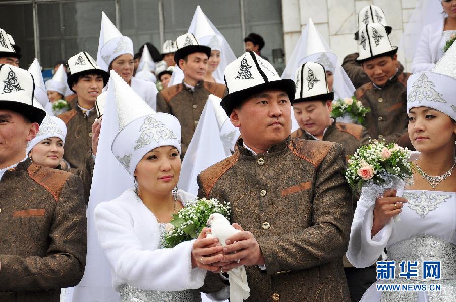
<path fill-rule="evenodd" d="M 454 153 L 456 122 L 438 110 L 415 107 L 408 113 L 408 135 L 416 151 L 426 153 L 453 148 Z"/>

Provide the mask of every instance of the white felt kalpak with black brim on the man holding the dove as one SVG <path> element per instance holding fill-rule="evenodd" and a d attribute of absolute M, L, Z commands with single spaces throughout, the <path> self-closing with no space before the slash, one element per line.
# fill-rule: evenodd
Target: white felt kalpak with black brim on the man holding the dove
<path fill-rule="evenodd" d="M 281 79 L 271 63 L 254 52 L 246 52 L 226 66 L 224 75 L 229 93 L 220 105 L 228 116 L 243 100 L 266 89 L 284 90 L 294 100 L 294 81 Z"/>

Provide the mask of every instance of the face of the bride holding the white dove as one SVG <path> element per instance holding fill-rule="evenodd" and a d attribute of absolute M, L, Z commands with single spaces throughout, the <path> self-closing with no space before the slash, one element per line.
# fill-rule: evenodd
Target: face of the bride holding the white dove
<path fill-rule="evenodd" d="M 139 192 L 165 195 L 177 185 L 182 161 L 173 146 L 161 146 L 149 151 L 136 166 L 134 176 Z"/>

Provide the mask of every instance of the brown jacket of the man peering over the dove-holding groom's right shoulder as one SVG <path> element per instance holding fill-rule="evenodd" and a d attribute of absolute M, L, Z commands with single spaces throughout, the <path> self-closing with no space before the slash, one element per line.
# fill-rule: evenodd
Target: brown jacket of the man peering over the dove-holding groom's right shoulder
<path fill-rule="evenodd" d="M 292 138 L 315 141 L 316 138 L 301 128 L 291 134 Z M 355 151 L 369 143 L 369 134 L 366 128 L 357 124 L 333 122 L 323 135 L 322 141 L 339 143 L 344 146 L 346 157 L 353 155 Z"/>

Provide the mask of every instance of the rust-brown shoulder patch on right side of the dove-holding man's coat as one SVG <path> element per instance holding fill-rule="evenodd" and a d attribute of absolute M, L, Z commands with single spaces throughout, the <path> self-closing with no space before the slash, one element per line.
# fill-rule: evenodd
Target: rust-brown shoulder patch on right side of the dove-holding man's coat
<path fill-rule="evenodd" d="M 329 148 L 334 144 L 326 141 L 307 141 L 294 138 L 291 139 L 288 148 L 294 155 L 310 162 L 315 169 L 318 169 L 328 154 Z"/>

